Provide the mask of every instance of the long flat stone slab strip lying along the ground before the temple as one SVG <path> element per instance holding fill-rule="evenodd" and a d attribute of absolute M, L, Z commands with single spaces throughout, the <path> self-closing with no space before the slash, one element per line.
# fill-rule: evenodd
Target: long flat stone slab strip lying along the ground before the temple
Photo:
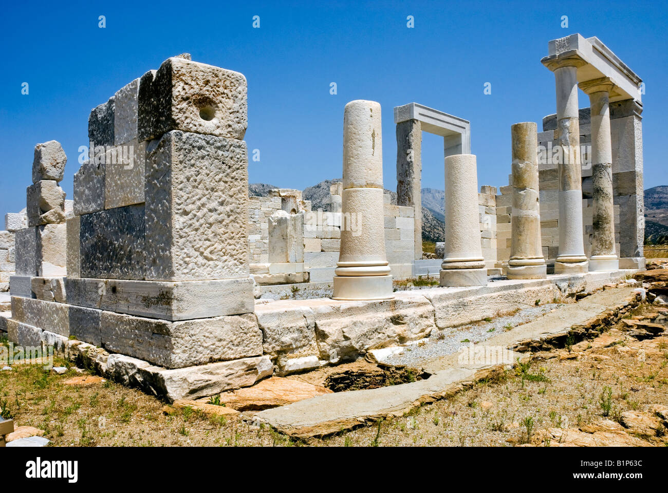
<path fill-rule="evenodd" d="M 565 305 L 540 319 L 520 325 L 488 339 L 484 346 L 507 351 L 526 339 L 541 339 L 558 333 L 566 333 L 571 327 L 587 323 L 593 317 L 609 309 L 633 302 L 633 288 L 620 288 L 595 293 L 578 303 Z M 297 438 L 323 436 L 373 422 L 375 420 L 403 416 L 411 409 L 456 393 L 472 385 L 494 371 L 508 366 L 508 360 L 528 359 L 528 355 L 508 351 L 505 361 L 494 364 L 464 361 L 460 355 L 448 355 L 426 369 L 432 375 L 428 379 L 403 383 L 379 389 L 345 391 L 319 395 L 289 405 L 265 409 L 248 418 L 251 421 L 267 423 L 280 432 Z"/>

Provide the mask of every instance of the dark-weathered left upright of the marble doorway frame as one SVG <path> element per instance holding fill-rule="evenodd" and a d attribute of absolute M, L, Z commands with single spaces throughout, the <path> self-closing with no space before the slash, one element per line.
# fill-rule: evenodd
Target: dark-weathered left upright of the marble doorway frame
<path fill-rule="evenodd" d="M 422 259 L 422 124 L 397 124 L 397 205 L 415 211 L 415 259 Z"/>

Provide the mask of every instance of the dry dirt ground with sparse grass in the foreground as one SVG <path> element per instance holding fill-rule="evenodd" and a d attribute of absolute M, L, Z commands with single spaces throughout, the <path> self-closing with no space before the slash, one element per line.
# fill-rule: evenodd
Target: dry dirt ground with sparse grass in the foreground
<path fill-rule="evenodd" d="M 190 408 L 166 414 L 164 402 L 99 377 L 65 383 L 88 375 L 74 367 L 0 371 L 0 412 L 43 430 L 53 446 L 668 446 L 668 336 L 629 335 L 633 317 L 652 312 L 641 305 L 597 339 L 540 353 L 409 416 L 325 438 L 293 440 Z"/>

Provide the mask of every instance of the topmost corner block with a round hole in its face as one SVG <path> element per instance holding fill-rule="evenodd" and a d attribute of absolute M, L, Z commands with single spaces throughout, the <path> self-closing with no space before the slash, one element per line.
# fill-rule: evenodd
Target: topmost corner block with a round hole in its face
<path fill-rule="evenodd" d="M 140 80 L 139 140 L 170 130 L 242 139 L 247 126 L 246 77 L 183 58 L 166 59 Z"/>

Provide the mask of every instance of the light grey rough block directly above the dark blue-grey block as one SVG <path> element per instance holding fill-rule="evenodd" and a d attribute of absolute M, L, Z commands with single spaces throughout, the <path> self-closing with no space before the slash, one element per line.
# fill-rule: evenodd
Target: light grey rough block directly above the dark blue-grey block
<path fill-rule="evenodd" d="M 111 209 L 144 202 L 144 163 L 146 142 L 136 139 L 116 147 L 116 154 L 132 156 L 120 162 L 106 161 L 104 178 L 104 208 Z"/>

